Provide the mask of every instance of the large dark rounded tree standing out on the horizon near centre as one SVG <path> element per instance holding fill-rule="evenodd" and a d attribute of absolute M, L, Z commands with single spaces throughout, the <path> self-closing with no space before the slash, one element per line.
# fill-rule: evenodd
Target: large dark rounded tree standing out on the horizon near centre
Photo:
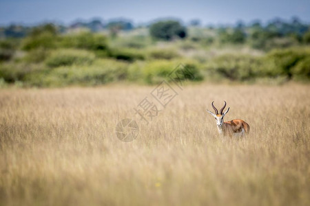
<path fill-rule="evenodd" d="M 172 40 L 174 37 L 185 38 L 187 30 L 178 21 L 159 21 L 149 28 L 152 37 L 162 40 Z"/>

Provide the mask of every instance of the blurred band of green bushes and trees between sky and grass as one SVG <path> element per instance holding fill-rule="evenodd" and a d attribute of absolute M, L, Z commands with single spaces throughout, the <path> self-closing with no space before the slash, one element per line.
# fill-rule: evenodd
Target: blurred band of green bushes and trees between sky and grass
<path fill-rule="evenodd" d="M 309 25 L 298 19 L 274 19 L 264 26 L 239 22 L 234 27 L 159 21 L 133 28 L 128 23 L 10 27 L 14 35 L 27 31 L 24 38 L 6 38 L 7 28 L 0 28 L 1 87 L 310 80 Z M 115 27 L 117 35 L 110 35 Z"/>

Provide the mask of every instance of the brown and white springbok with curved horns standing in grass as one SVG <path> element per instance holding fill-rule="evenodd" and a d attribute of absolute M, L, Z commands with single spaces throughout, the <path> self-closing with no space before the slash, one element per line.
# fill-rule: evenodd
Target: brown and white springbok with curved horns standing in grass
<path fill-rule="evenodd" d="M 229 111 L 229 108 L 227 108 L 227 111 L 223 113 L 223 110 L 226 106 L 226 102 L 224 106 L 220 109 L 220 113 L 218 113 L 218 110 L 214 106 L 213 102 L 211 103 L 211 105 L 216 113 L 214 114 L 209 110 L 207 111 L 210 115 L 214 116 L 214 118 L 216 119 L 216 125 L 218 126 L 218 133 L 220 133 L 220 135 L 229 137 L 232 137 L 234 135 L 235 137 L 241 137 L 249 133 L 250 130 L 249 124 L 247 124 L 247 122 L 243 121 L 242 119 L 233 119 L 229 122 L 223 121 L 224 116 Z"/>

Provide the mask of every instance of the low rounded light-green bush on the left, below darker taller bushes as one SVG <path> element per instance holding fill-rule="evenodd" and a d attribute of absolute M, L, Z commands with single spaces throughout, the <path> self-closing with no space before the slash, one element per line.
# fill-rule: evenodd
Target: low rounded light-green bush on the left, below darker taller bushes
<path fill-rule="evenodd" d="M 77 49 L 59 49 L 45 60 L 48 67 L 61 67 L 67 65 L 90 65 L 94 61 L 94 54 Z"/>

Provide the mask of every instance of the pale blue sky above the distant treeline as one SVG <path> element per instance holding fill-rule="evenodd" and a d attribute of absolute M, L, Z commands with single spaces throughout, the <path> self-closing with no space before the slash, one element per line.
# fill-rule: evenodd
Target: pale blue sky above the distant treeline
<path fill-rule="evenodd" d="M 103 20 L 123 17 L 131 19 L 134 23 L 146 23 L 162 17 L 176 17 L 185 22 L 200 19 L 205 25 L 236 23 L 239 20 L 247 23 L 255 19 L 265 22 L 274 17 L 289 20 L 292 16 L 310 22 L 310 1 L 0 0 L 1 25 L 43 21 L 71 23 L 76 19 L 90 20 L 93 17 L 100 17 Z"/>

